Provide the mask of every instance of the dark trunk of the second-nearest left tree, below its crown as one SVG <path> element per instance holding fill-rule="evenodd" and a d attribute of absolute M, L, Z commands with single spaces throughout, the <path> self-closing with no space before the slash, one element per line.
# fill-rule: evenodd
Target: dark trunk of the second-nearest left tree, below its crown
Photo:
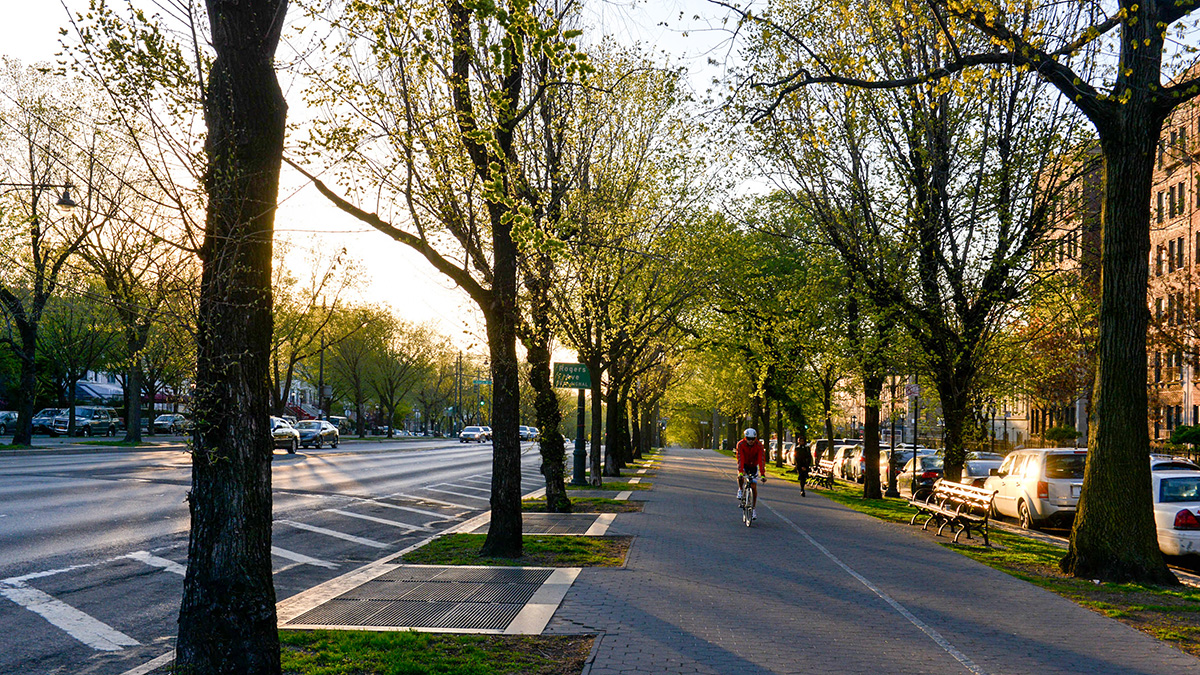
<path fill-rule="evenodd" d="M 492 220 L 492 307 L 487 346 L 492 357 L 492 522 L 482 554 L 521 557 L 521 384 L 517 368 L 517 247 L 512 222 L 499 204 Z"/>

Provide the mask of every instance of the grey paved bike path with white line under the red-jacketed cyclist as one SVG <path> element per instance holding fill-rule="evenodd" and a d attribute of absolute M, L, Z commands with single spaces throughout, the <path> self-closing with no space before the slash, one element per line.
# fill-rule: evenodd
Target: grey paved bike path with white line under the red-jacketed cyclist
<path fill-rule="evenodd" d="M 578 577 L 546 633 L 599 633 L 617 673 L 1200 674 L 1148 635 L 772 480 L 742 524 L 733 460 L 667 450 L 624 569 Z"/>

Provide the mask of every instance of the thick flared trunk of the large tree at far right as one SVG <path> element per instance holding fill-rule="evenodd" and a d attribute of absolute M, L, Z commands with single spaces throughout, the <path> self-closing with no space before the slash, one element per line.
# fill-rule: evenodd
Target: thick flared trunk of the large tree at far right
<path fill-rule="evenodd" d="M 1148 23 L 1148 22 L 1147 22 Z M 1156 32 L 1158 29 L 1145 26 Z M 1140 50 L 1139 50 L 1140 52 Z M 1157 49 L 1148 49 L 1158 54 Z M 1146 59 L 1152 61 L 1153 59 Z M 1136 64 L 1136 65 L 1134 65 Z M 1130 67 L 1145 67 L 1134 60 Z M 1120 67 L 1126 67 L 1124 61 Z M 1151 79 L 1158 82 L 1157 70 Z M 1100 127 L 1104 151 L 1099 346 L 1084 494 L 1063 572 L 1084 579 L 1176 585 L 1158 549 L 1146 429 L 1146 285 L 1154 150 L 1162 119 L 1138 103 Z M 1098 125 L 1099 126 L 1099 125 Z"/>

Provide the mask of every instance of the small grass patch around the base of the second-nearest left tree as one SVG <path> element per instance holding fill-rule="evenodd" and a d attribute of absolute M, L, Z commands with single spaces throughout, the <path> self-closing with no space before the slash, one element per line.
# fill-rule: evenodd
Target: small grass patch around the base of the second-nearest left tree
<path fill-rule="evenodd" d="M 413 565 L 502 567 L 620 567 L 630 537 L 526 536 L 521 557 L 484 557 L 485 534 L 448 534 L 404 556 Z"/>

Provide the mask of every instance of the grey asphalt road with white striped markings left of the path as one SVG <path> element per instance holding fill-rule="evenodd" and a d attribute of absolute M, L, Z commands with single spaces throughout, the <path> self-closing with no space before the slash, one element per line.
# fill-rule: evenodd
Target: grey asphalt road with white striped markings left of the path
<path fill-rule="evenodd" d="M 524 444 L 524 491 L 539 462 Z M 486 510 L 491 446 L 346 441 L 272 468 L 283 599 Z M 169 652 L 190 484 L 182 446 L 0 455 L 0 673 L 126 675 Z"/>

